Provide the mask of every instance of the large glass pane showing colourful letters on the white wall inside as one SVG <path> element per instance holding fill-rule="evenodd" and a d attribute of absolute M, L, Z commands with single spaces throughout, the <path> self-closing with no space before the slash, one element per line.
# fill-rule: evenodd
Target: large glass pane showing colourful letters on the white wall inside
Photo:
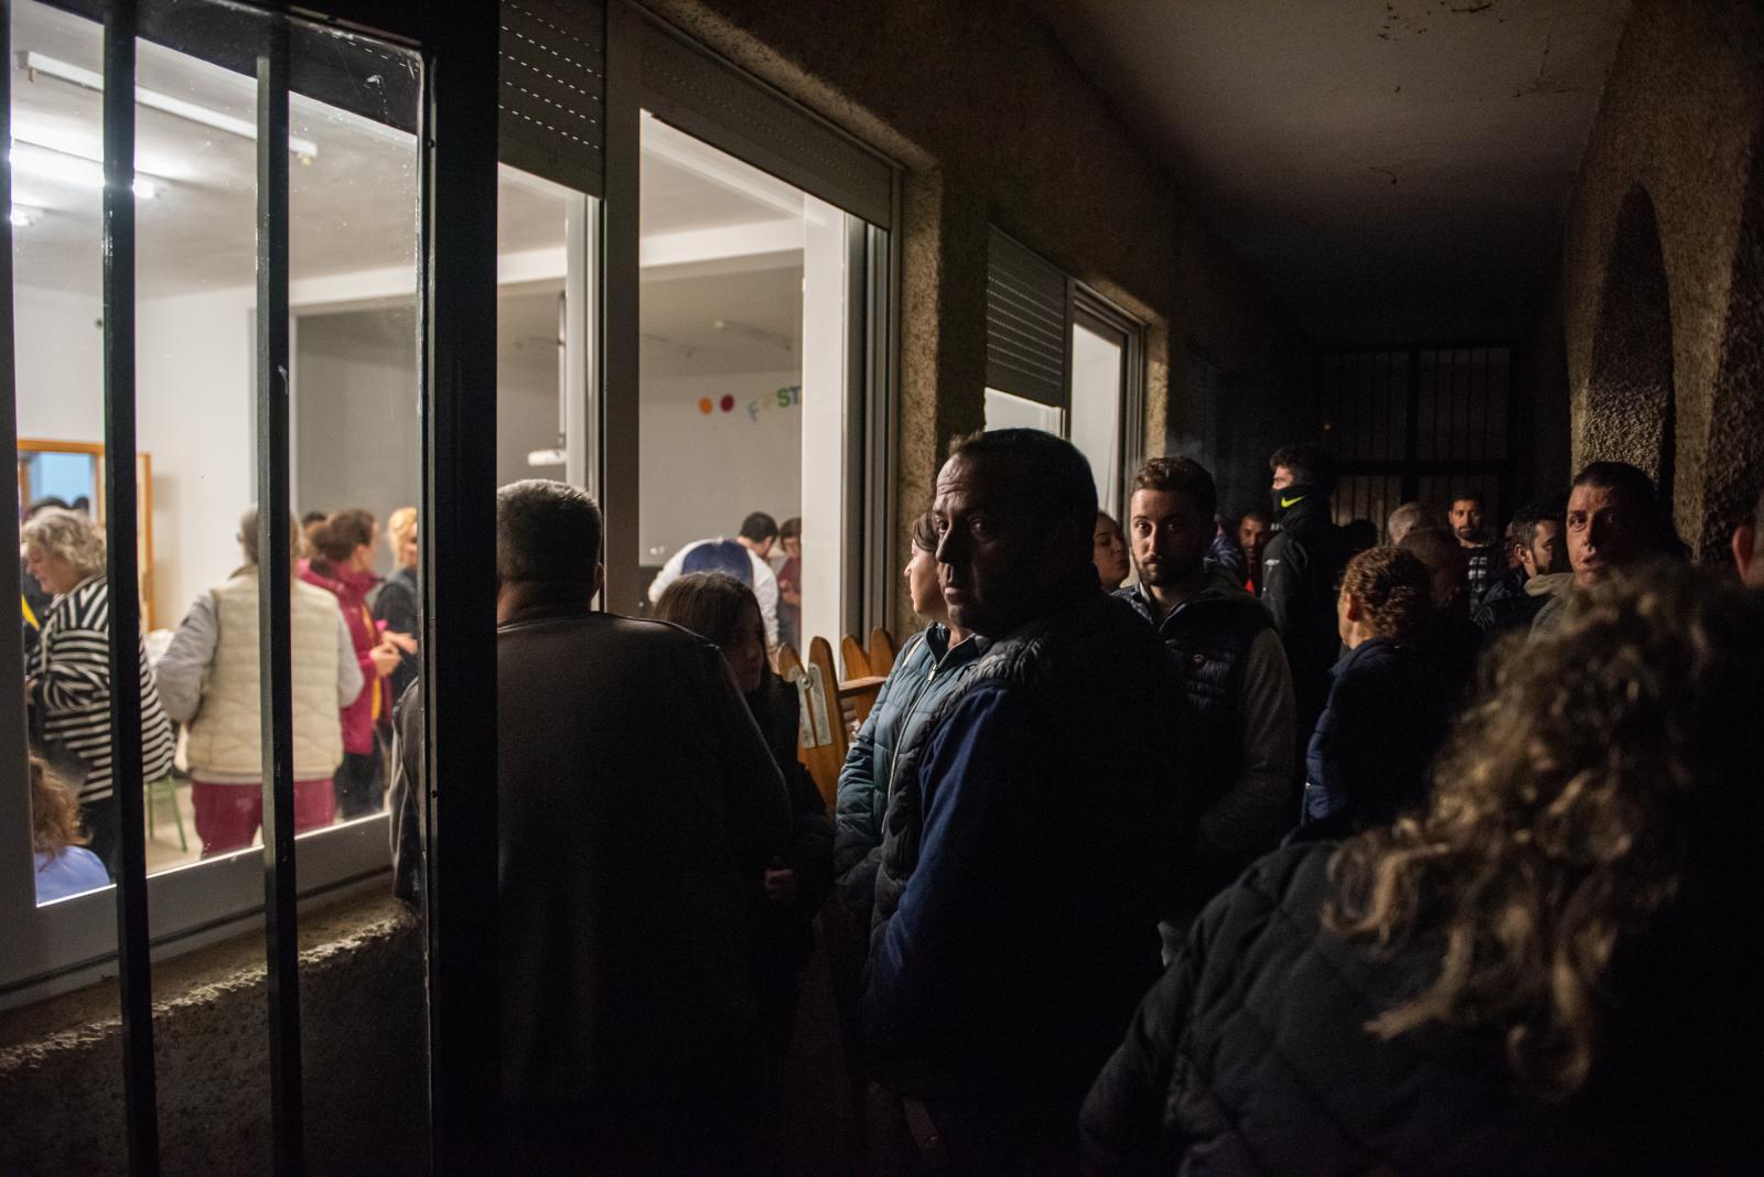
<path fill-rule="evenodd" d="M 642 148 L 640 583 L 653 604 L 700 541 L 799 520 L 801 555 L 759 541 L 746 569 L 774 640 L 836 641 L 852 222 L 649 116 Z"/>

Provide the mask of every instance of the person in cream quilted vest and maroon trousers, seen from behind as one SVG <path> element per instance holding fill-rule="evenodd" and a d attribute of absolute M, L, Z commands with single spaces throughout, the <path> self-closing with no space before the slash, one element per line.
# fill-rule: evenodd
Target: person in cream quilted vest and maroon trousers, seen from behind
<path fill-rule="evenodd" d="M 289 520 L 288 532 L 300 532 Z M 259 721 L 258 509 L 238 522 L 245 566 L 196 597 L 162 659 L 159 698 L 189 724 L 185 759 L 203 858 L 245 849 L 263 821 Z M 323 588 L 289 583 L 293 611 L 295 833 L 337 816 L 332 775 L 342 761 L 339 707 L 362 692 L 349 627 Z"/>

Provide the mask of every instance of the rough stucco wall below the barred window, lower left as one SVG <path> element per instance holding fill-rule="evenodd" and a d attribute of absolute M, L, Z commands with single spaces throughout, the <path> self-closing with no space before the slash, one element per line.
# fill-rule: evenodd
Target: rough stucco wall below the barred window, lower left
<path fill-rule="evenodd" d="M 422 936 L 390 899 L 302 918 L 307 1166 L 427 1163 Z M 270 1172 L 263 936 L 153 969 L 168 1173 Z M 0 1015 L 0 1172 L 127 1172 L 115 981 Z"/>

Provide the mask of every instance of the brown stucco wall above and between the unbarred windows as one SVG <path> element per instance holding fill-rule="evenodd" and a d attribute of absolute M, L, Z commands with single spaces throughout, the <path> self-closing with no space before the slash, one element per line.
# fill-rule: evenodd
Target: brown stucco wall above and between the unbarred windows
<path fill-rule="evenodd" d="M 1244 377 L 1245 412 L 1286 418 L 1302 403 L 1304 337 L 1184 204 L 1180 185 L 1028 7 L 649 7 L 907 169 L 896 559 L 951 433 L 983 419 L 988 224 L 1148 324 L 1148 453 L 1180 430 L 1184 349 Z"/>

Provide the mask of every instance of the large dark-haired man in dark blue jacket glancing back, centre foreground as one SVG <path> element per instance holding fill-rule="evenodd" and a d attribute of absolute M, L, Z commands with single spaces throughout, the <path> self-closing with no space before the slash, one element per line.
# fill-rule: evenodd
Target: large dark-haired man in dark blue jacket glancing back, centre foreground
<path fill-rule="evenodd" d="M 1095 511 L 1083 456 L 1037 430 L 963 439 L 937 479 L 951 620 L 993 645 L 901 784 L 923 835 L 898 906 L 878 877 L 863 1027 L 893 1094 L 875 1126 L 907 1154 L 886 1165 L 1073 1168 L 1083 1092 L 1157 976 L 1191 835 L 1143 717 L 1180 696 L 1097 583 Z"/>

